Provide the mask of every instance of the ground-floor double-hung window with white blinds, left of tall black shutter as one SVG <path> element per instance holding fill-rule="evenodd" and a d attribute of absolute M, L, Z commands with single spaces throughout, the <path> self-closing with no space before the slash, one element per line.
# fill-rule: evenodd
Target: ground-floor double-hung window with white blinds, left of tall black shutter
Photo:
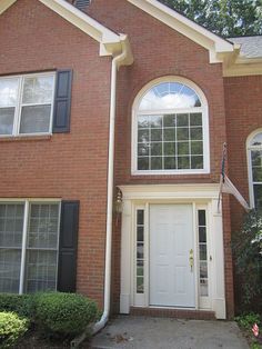
<path fill-rule="evenodd" d="M 0 202 L 0 292 L 57 289 L 60 202 Z"/>

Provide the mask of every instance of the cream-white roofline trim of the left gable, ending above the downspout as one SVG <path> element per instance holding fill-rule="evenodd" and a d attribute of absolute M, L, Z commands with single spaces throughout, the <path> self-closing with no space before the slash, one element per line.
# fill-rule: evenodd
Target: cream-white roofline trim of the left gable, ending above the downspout
<path fill-rule="evenodd" d="M 1 0 L 0 14 L 11 7 L 17 0 Z M 80 11 L 64 0 L 39 0 L 49 9 L 61 16 L 71 24 L 90 36 L 100 43 L 100 56 L 115 56 L 122 52 L 123 40 L 120 34 L 105 28 L 87 13 Z M 125 38 L 125 42 L 127 42 Z"/>

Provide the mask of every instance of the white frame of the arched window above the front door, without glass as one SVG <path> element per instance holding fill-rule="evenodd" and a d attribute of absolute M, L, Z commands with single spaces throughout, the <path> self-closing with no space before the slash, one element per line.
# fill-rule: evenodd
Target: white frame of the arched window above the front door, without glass
<path fill-rule="evenodd" d="M 195 91 L 201 101 L 201 107 L 177 108 L 170 110 L 143 110 L 139 112 L 139 104 L 143 96 L 152 88 L 164 82 L 178 82 L 185 84 Z M 167 114 L 183 112 L 201 112 L 203 130 L 203 169 L 178 169 L 178 170 L 138 170 L 138 116 L 139 114 Z M 133 176 L 152 176 L 152 174 L 201 174 L 210 173 L 210 138 L 209 138 L 209 109 L 208 100 L 202 90 L 192 81 L 181 77 L 164 77 L 155 79 L 143 87 L 134 99 L 132 107 L 132 146 L 131 146 L 131 174 Z"/>

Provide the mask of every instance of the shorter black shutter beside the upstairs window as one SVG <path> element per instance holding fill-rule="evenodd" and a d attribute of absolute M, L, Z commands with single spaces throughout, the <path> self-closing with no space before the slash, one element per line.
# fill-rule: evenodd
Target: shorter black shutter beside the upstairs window
<path fill-rule="evenodd" d="M 58 70 L 53 110 L 53 133 L 70 131 L 72 70 Z"/>

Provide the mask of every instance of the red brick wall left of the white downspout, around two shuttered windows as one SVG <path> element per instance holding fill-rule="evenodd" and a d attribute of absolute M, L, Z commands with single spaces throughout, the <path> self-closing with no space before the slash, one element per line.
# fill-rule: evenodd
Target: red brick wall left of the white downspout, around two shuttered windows
<path fill-rule="evenodd" d="M 110 58 L 38 0 L 0 20 L 0 74 L 73 69 L 70 133 L 0 141 L 0 197 L 80 200 L 78 291 L 103 299 Z"/>

